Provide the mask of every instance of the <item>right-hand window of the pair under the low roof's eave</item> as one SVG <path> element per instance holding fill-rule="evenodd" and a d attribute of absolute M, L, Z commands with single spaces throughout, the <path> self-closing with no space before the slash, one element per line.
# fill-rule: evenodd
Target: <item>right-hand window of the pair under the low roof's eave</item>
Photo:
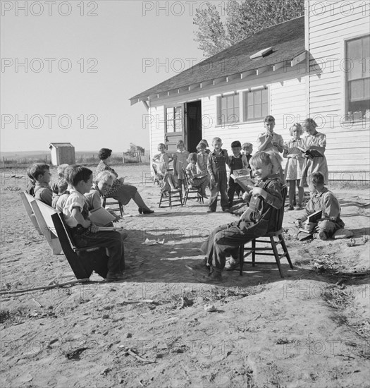
<path fill-rule="evenodd" d="M 269 114 L 269 94 L 267 89 L 243 92 L 244 121 L 263 119 Z"/>

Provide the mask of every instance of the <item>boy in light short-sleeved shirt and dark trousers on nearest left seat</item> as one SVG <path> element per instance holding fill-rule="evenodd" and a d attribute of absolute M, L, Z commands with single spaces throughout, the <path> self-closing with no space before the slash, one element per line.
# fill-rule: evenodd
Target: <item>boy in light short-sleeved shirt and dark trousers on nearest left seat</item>
<path fill-rule="evenodd" d="M 108 274 L 106 279 L 121 280 L 126 276 L 124 248 L 121 234 L 117 231 L 99 231 L 99 227 L 89 219 L 89 210 L 85 193 L 92 188 L 92 171 L 83 166 L 74 166 L 68 176 L 70 195 L 63 207 L 66 224 L 70 228 L 75 244 L 78 248 L 89 245 L 108 248 Z"/>

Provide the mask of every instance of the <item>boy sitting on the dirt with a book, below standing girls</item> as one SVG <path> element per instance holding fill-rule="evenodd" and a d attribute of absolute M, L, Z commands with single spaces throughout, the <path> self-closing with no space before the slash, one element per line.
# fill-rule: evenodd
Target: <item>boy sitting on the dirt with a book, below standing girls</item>
<path fill-rule="evenodd" d="M 324 179 L 321 172 L 317 171 L 312 173 L 311 181 L 309 183 L 311 198 L 304 208 L 304 214 L 295 220 L 297 226 L 302 226 L 302 223 L 307 220 L 310 214 L 322 210 L 321 219 L 317 222 L 315 228 L 317 234 L 314 234 L 314 237 L 318 237 L 321 240 L 327 240 L 329 237 L 332 237 L 336 231 L 343 229 L 345 226 L 343 220 L 340 219 L 339 202 L 337 198 L 335 198 L 335 195 L 324 186 Z"/>

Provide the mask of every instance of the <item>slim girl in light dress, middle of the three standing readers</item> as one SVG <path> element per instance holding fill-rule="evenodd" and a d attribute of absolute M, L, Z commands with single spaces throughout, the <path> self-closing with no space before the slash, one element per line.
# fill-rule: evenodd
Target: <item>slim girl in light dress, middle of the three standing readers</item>
<path fill-rule="evenodd" d="M 292 138 L 284 143 L 283 157 L 288 159 L 285 166 L 285 180 L 289 185 L 289 207 L 288 210 L 294 210 L 295 204 L 295 184 L 298 188 L 298 205 L 295 210 L 302 210 L 302 201 L 304 195 L 304 189 L 300 186 L 300 179 L 302 178 L 302 169 L 304 165 L 304 157 L 302 151 L 298 148 L 302 148 L 303 140 L 300 136 L 303 133 L 303 128 L 300 124 L 294 123 L 289 128 L 289 133 Z"/>

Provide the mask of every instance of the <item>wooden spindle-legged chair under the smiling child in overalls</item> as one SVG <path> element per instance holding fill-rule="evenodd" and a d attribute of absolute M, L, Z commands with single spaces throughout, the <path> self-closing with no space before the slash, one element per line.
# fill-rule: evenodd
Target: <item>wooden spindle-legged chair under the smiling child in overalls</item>
<path fill-rule="evenodd" d="M 287 190 L 288 190 L 287 186 L 285 186 L 285 185 L 281 189 L 281 194 L 283 196 L 283 204 L 285 203 Z M 265 234 L 264 236 L 259 237 L 259 238 L 268 238 L 268 239 L 260 240 L 260 239 L 254 238 L 252 241 L 249 241 L 249 243 L 252 246 L 246 246 L 246 245 L 249 245 L 249 243 L 240 246 L 240 251 L 239 251 L 239 260 L 240 260 L 240 272 L 239 272 L 239 274 L 240 275 L 243 274 L 243 265 L 245 263 L 245 257 L 249 256 L 250 254 L 252 254 L 252 267 L 254 267 L 254 265 L 256 265 L 256 264 L 276 264 L 276 265 L 278 265 L 280 277 L 284 277 L 283 272 L 281 271 L 281 266 L 280 266 L 280 259 L 281 258 L 286 257 L 288 260 L 288 263 L 290 265 L 290 268 L 293 269 L 292 261 L 290 260 L 290 255 L 288 253 L 288 248 L 285 245 L 285 241 L 284 241 L 284 237 L 283 237 L 283 229 L 281 229 L 282 225 L 283 225 L 283 217 L 284 217 L 284 205 L 276 211 L 275 231 L 270 231 L 267 234 Z M 275 238 L 278 238 L 278 240 L 276 241 Z M 264 243 L 265 246 L 257 247 L 257 243 Z M 266 247 L 266 244 L 270 244 L 271 246 Z M 278 252 L 278 245 L 281 245 L 283 253 Z M 248 250 L 248 252 L 244 253 L 245 250 Z M 273 253 L 263 252 L 266 250 L 272 250 Z M 255 261 L 256 255 L 274 256 L 276 263 L 275 262 L 256 262 Z"/>

